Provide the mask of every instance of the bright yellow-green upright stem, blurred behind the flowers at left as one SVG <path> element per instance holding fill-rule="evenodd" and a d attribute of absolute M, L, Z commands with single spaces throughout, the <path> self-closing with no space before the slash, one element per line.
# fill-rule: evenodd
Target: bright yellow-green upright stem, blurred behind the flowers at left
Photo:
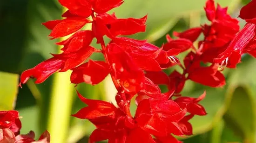
<path fill-rule="evenodd" d="M 66 11 L 66 9 L 63 9 L 63 11 Z M 61 50 L 59 53 L 60 52 Z M 74 85 L 70 83 L 70 75 L 70 70 L 54 75 L 50 95 L 49 119 L 47 123 L 47 130 L 51 135 L 51 143 L 65 143 L 67 140 L 70 114 L 74 99 Z"/>

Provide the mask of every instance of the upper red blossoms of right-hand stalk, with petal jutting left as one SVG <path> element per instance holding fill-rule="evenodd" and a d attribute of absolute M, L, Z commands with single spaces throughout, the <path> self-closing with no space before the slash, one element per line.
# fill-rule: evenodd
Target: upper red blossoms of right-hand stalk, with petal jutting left
<path fill-rule="evenodd" d="M 222 67 L 234 68 L 234 62 L 239 62 L 239 59 L 236 58 L 237 53 L 234 53 L 229 60 L 227 57 L 221 60 L 216 60 L 216 58 L 219 58 L 222 52 L 225 53 L 228 50 L 228 44 L 239 31 L 238 20 L 227 14 L 227 7 L 222 8 L 219 4 L 216 7 L 214 0 L 207 0 L 204 9 L 208 20 L 211 22 L 210 25 L 205 24 L 182 33 L 175 32 L 175 36 L 188 38 L 193 42 L 202 31 L 204 40 L 199 41 L 199 49 L 197 50 L 197 53 L 202 56 L 202 61 L 219 63 Z"/>

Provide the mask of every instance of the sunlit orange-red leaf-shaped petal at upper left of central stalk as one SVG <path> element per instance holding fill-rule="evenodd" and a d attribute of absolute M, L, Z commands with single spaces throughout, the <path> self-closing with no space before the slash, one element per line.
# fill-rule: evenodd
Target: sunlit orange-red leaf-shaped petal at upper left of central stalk
<path fill-rule="evenodd" d="M 53 39 L 67 36 L 81 29 L 88 22 L 90 22 L 88 19 L 78 18 L 78 17 L 72 18 L 72 19 L 71 18 L 63 19 L 59 24 L 57 24 L 53 28 L 49 36 L 53 37 Z"/>

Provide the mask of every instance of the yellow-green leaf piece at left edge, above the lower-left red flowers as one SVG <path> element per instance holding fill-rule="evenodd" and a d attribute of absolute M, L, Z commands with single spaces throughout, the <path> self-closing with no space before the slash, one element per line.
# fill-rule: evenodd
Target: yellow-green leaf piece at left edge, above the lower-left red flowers
<path fill-rule="evenodd" d="M 18 85 L 19 75 L 0 72 L 0 111 L 14 109 Z"/>

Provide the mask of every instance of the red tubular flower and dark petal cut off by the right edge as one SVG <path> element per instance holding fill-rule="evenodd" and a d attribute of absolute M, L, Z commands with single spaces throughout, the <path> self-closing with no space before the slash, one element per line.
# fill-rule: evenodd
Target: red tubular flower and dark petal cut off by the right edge
<path fill-rule="evenodd" d="M 228 66 L 236 68 L 236 64 L 241 61 L 243 53 L 249 53 L 254 56 L 255 53 L 255 32 L 256 32 L 256 12 L 254 7 L 256 1 L 252 0 L 248 5 L 244 6 L 240 11 L 240 17 L 248 22 L 241 31 L 236 34 L 236 37 L 230 42 L 228 48 L 220 53 L 215 62 L 229 60 Z"/>

